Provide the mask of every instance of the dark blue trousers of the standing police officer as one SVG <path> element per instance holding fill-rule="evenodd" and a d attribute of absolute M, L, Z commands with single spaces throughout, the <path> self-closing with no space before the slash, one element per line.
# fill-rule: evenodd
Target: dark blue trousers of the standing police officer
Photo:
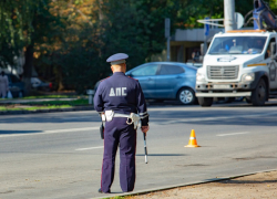
<path fill-rule="evenodd" d="M 136 129 L 126 124 L 126 117 L 114 117 L 105 123 L 104 157 L 101 190 L 109 192 L 114 179 L 115 155 L 120 144 L 120 185 L 123 192 L 134 189 Z"/>

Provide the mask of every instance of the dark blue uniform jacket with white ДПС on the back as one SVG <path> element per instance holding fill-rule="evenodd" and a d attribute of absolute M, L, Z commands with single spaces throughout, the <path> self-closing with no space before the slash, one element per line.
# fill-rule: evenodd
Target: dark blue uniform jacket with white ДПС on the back
<path fill-rule="evenodd" d="M 138 81 L 115 72 L 103 80 L 94 94 L 96 112 L 113 109 L 115 113 L 136 113 L 142 119 L 142 126 L 148 125 L 148 114 L 144 94 Z"/>

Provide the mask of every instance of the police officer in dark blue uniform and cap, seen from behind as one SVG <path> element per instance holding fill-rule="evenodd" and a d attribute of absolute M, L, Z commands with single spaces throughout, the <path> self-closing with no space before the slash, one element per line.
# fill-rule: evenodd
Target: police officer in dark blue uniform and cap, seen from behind
<path fill-rule="evenodd" d="M 104 155 L 99 192 L 111 192 L 115 155 L 120 144 L 120 185 L 123 192 L 134 189 L 136 127 L 148 130 L 147 107 L 138 81 L 125 76 L 127 54 L 110 56 L 113 75 L 103 80 L 94 95 L 94 108 L 105 121 Z"/>

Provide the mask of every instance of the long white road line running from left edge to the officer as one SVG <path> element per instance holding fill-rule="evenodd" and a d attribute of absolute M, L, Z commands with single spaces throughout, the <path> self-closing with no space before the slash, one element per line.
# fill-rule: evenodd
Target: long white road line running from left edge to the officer
<path fill-rule="evenodd" d="M 54 129 L 54 130 L 41 130 L 39 133 L 25 133 L 25 134 L 6 134 L 0 135 L 0 137 L 18 137 L 18 136 L 31 136 L 31 135 L 47 135 L 47 134 L 60 134 L 69 132 L 85 132 L 85 130 L 95 130 L 99 127 L 84 127 L 84 128 L 68 128 L 68 129 Z"/>

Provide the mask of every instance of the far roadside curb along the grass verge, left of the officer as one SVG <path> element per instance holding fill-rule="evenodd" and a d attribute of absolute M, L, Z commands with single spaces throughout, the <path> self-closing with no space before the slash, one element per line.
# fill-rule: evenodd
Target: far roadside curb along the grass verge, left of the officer
<path fill-rule="evenodd" d="M 57 113 L 57 112 L 81 112 L 81 111 L 94 111 L 93 106 L 71 107 L 71 108 L 49 108 L 49 109 L 35 109 L 35 111 L 7 111 L 0 112 L 0 115 L 20 115 L 20 114 L 38 114 L 38 113 Z"/>

